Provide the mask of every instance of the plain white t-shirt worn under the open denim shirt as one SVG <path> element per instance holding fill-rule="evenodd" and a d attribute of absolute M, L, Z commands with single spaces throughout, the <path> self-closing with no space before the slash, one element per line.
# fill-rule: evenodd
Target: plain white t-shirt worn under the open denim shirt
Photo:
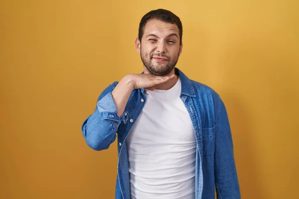
<path fill-rule="evenodd" d="M 180 99 L 169 90 L 145 90 L 147 100 L 126 141 L 132 199 L 194 199 L 196 139 Z"/>

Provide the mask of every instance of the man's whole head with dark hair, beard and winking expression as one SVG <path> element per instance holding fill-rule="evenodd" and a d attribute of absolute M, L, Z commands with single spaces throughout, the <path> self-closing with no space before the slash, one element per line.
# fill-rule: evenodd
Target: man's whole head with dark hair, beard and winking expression
<path fill-rule="evenodd" d="M 149 73 L 166 75 L 175 67 L 182 51 L 182 23 L 165 9 L 143 16 L 136 39 L 136 50 Z"/>

